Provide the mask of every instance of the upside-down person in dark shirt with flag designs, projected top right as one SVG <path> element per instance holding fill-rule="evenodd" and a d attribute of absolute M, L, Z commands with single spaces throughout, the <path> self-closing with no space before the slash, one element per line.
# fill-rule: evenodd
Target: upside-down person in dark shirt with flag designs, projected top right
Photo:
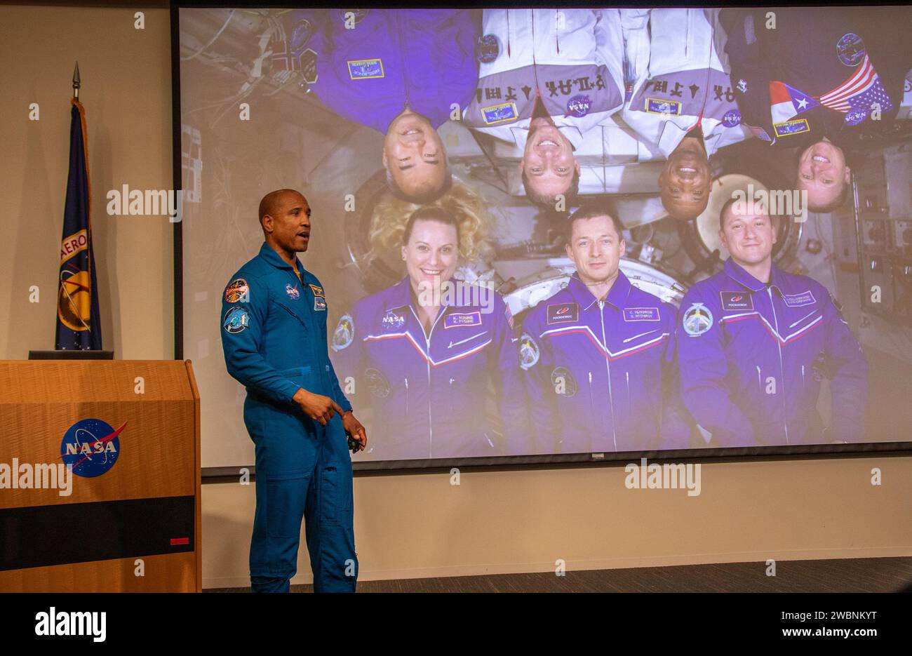
<path fill-rule="evenodd" d="M 903 99 L 912 8 L 723 9 L 720 20 L 742 120 L 803 149 L 795 178 L 812 212 L 842 205 L 846 148 L 859 131 L 885 130 Z"/>

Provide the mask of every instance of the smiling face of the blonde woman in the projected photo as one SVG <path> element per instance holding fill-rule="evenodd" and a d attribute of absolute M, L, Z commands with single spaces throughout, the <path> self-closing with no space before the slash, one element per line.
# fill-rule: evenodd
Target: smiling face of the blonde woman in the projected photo
<path fill-rule="evenodd" d="M 440 290 L 456 271 L 459 237 L 453 225 L 419 219 L 411 227 L 409 243 L 402 246 L 402 257 L 416 294 Z"/>

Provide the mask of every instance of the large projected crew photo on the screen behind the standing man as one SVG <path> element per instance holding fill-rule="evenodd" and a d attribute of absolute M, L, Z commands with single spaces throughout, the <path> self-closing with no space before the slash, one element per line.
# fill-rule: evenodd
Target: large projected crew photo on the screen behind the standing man
<path fill-rule="evenodd" d="M 319 212 L 306 266 L 366 470 L 906 440 L 910 25 L 182 7 L 203 460 L 253 462 L 212 281 L 260 243 L 238 208 L 281 188 Z"/>

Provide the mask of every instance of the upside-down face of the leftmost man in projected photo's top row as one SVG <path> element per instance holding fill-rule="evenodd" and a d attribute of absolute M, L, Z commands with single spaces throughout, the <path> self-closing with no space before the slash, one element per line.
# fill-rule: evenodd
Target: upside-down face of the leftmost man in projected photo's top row
<path fill-rule="evenodd" d="M 401 193 L 419 198 L 443 188 L 447 153 L 430 122 L 406 108 L 389 124 L 383 166 Z"/>

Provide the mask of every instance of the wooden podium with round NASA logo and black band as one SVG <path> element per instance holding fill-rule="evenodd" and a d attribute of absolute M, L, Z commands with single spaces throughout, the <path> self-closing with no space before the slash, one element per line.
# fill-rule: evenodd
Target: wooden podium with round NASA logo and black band
<path fill-rule="evenodd" d="M 190 360 L 0 360 L 0 390 L 0 591 L 202 590 Z"/>

